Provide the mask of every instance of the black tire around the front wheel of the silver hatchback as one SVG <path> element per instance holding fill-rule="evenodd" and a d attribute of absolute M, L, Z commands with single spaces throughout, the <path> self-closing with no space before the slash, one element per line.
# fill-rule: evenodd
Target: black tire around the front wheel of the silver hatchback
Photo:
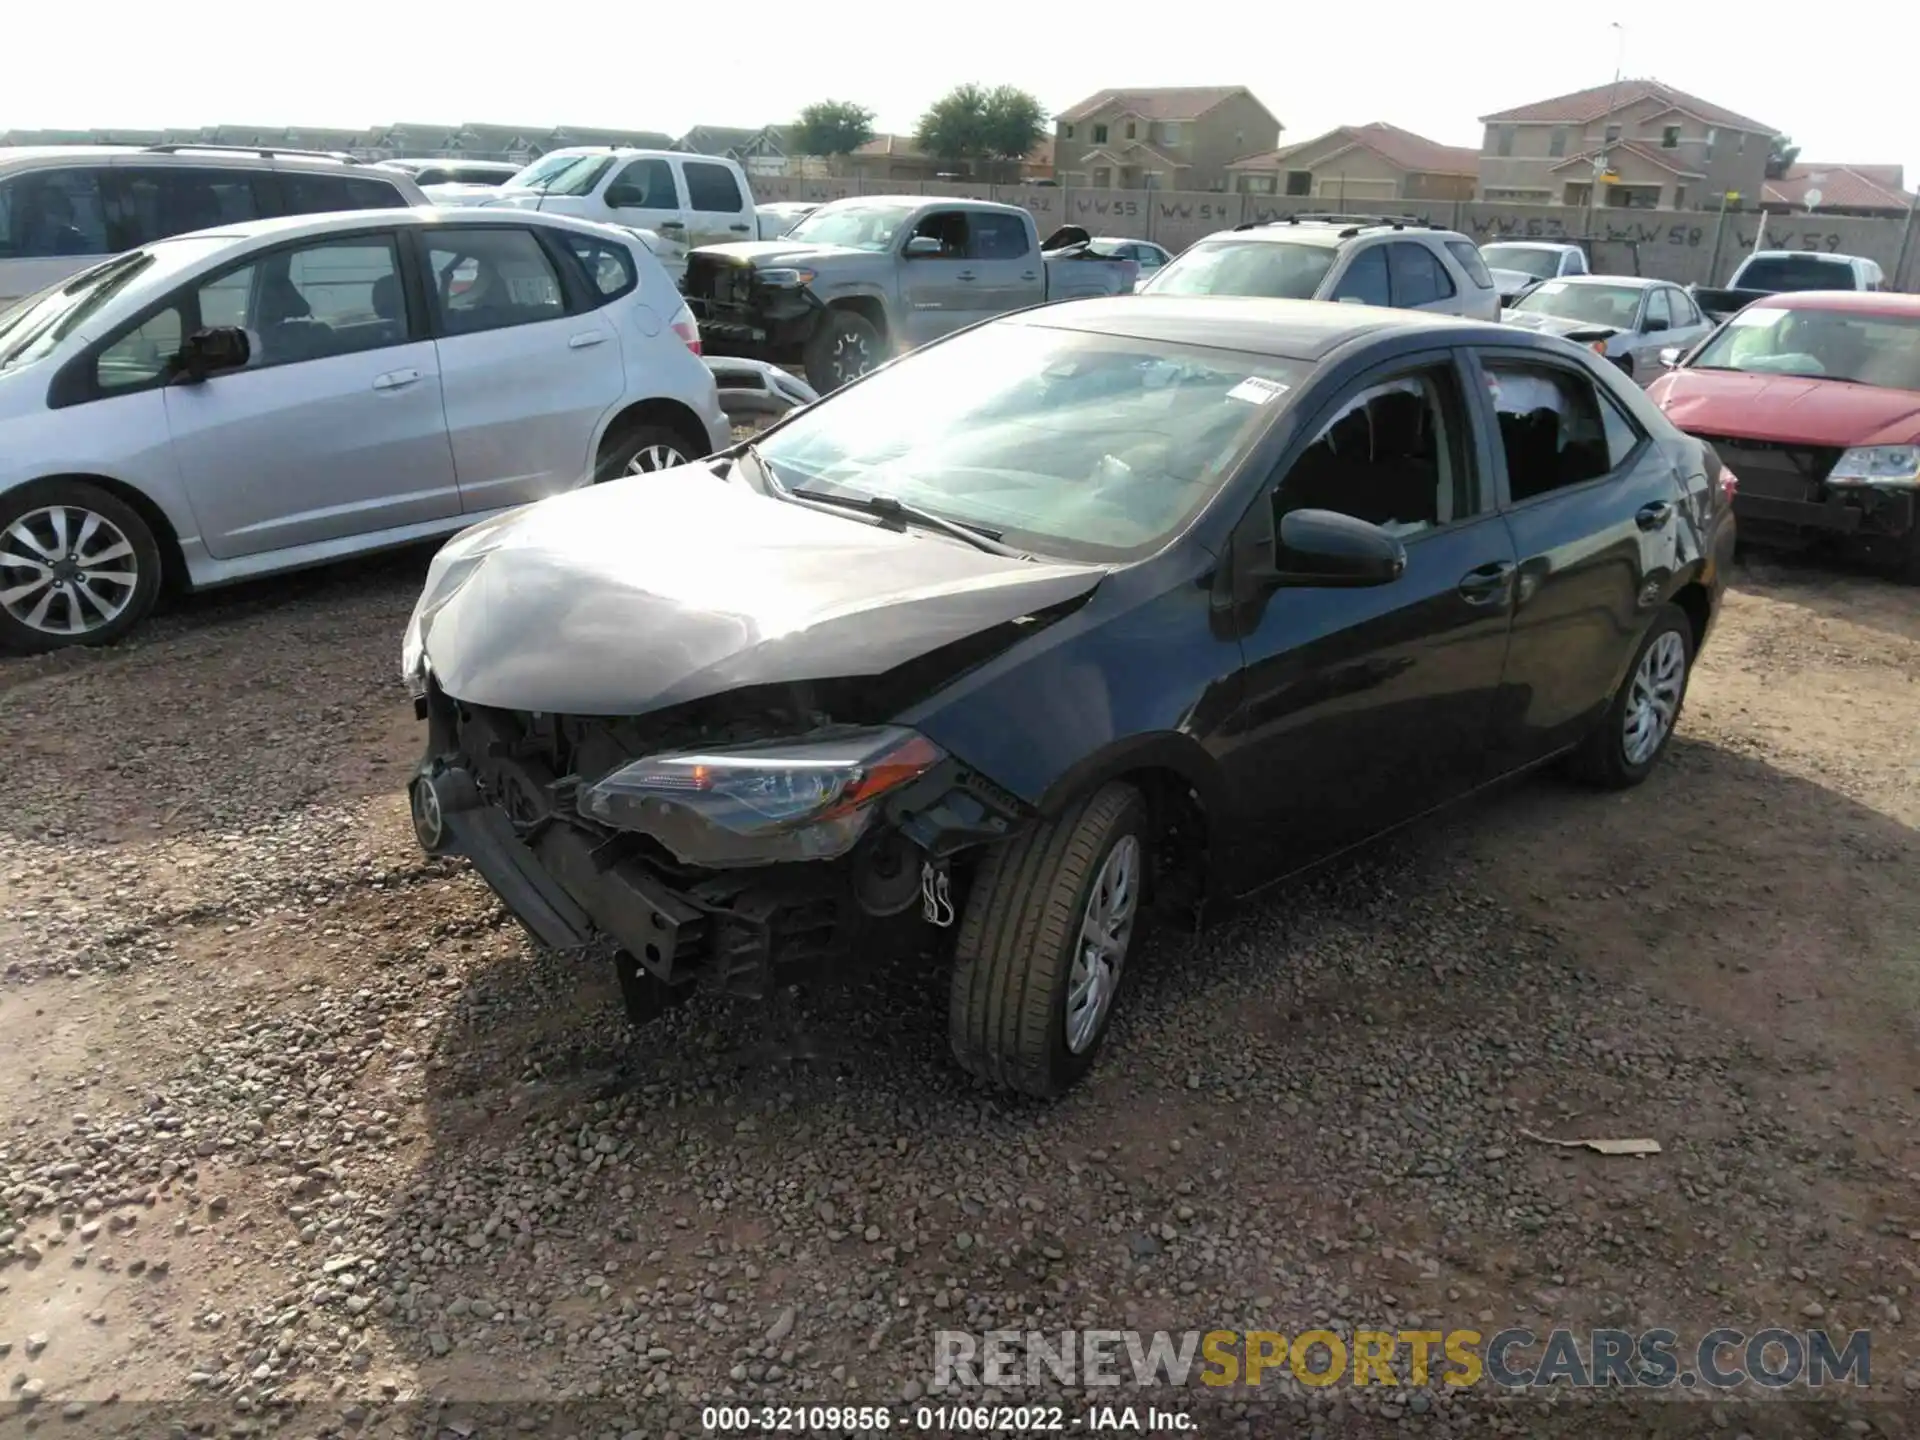
<path fill-rule="evenodd" d="M 61 516 L 61 530 L 52 528 L 54 513 Z M 88 526 L 84 516 L 94 522 Z M 15 524 L 23 524 L 35 543 L 27 543 L 27 538 L 8 540 L 19 536 Z M 111 534 L 115 530 L 117 540 Z M 60 534 L 65 534 L 73 549 L 63 551 L 52 568 L 0 563 L 0 595 L 33 584 L 40 574 L 50 576 L 42 589 L 0 603 L 0 647 L 35 655 L 69 645 L 111 645 L 154 609 L 161 582 L 159 541 L 132 505 L 86 480 L 44 480 L 0 495 L 0 557 L 35 559 L 36 549 L 58 549 L 54 541 Z M 84 549 L 79 545 L 83 536 L 88 538 Z M 119 549 L 121 541 L 125 551 Z M 83 568 L 88 559 L 96 561 L 90 570 Z M 60 580 L 69 570 L 73 580 Z M 132 580 L 108 580 L 125 574 Z M 88 595 L 104 599 L 111 614 L 102 618 L 104 609 L 90 605 Z M 33 622 L 40 597 L 48 599 L 48 607 Z M 94 624 L 77 632 L 63 630 L 75 612 L 81 624 Z"/>

